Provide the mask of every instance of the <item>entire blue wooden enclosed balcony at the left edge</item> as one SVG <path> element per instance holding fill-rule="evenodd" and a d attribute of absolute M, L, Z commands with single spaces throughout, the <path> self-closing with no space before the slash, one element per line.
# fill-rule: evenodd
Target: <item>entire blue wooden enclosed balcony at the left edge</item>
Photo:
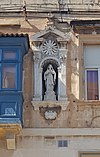
<path fill-rule="evenodd" d="M 23 111 L 23 57 L 28 36 L 0 36 L 0 124 L 21 124 Z"/>

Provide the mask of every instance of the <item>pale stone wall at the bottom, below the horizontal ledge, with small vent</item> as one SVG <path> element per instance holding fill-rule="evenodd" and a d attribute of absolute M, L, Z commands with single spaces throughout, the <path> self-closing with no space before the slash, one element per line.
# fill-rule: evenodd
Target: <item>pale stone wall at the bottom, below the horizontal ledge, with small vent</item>
<path fill-rule="evenodd" d="M 42 131 L 42 130 L 41 130 Z M 34 132 L 34 131 L 33 131 Z M 65 131 L 64 136 L 18 136 L 16 139 L 16 150 L 7 150 L 4 140 L 0 140 L 0 154 L 3 157 L 79 157 L 82 153 L 87 155 L 99 156 L 100 154 L 100 136 L 91 133 L 99 133 L 99 130 L 78 130 Z M 74 134 L 71 134 L 74 132 Z M 79 132 L 79 136 L 75 136 Z M 83 132 L 83 135 L 82 135 Z M 87 133 L 86 133 L 87 132 Z M 28 133 L 28 132 L 27 132 Z M 46 132 L 47 133 L 47 132 Z M 45 133 L 45 135 L 46 135 Z M 57 133 L 57 132 L 56 132 Z M 56 134 L 55 133 L 55 134 Z M 60 134 L 62 131 L 60 131 Z M 29 131 L 30 134 L 30 131 Z M 90 135 L 90 136 L 89 136 Z M 98 134 L 99 135 L 99 134 Z M 66 147 L 58 147 L 59 140 L 66 140 Z"/>

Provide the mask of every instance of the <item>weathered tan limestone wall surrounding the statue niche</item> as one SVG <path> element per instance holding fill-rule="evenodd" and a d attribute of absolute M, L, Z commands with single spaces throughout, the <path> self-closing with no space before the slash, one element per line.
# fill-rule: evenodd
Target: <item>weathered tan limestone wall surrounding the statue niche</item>
<path fill-rule="evenodd" d="M 3 1 L 0 1 L 0 3 Z M 7 1 L 9 2 L 9 1 Z M 20 1 L 21 2 L 21 1 Z M 26 21 L 24 17 L 7 17 L 0 18 L 0 33 L 16 34 L 27 33 L 29 35 L 29 41 L 32 35 L 44 30 L 48 24 L 48 19 L 43 18 L 31 18 Z M 84 86 L 82 79 L 82 71 L 79 68 L 83 68 L 83 60 L 80 57 L 82 49 L 79 49 L 78 35 L 71 31 L 69 24 L 65 25 L 64 22 L 54 23 L 54 26 L 60 31 L 70 32 L 71 40 L 68 42 L 68 56 L 67 56 L 67 94 L 69 104 L 66 110 L 61 110 L 57 119 L 52 123 L 48 123 L 40 111 L 35 111 L 32 106 L 33 98 L 33 52 L 30 43 L 30 50 L 24 58 L 24 79 L 23 79 L 23 91 L 24 91 L 24 104 L 23 104 L 23 126 L 32 128 L 51 127 L 51 128 L 68 128 L 68 127 L 100 127 L 99 114 L 100 104 L 98 102 L 86 102 L 80 101 L 84 98 Z M 97 37 L 97 38 L 96 38 Z M 85 41 L 92 40 L 92 43 L 99 42 L 99 35 L 91 36 L 86 35 Z"/>

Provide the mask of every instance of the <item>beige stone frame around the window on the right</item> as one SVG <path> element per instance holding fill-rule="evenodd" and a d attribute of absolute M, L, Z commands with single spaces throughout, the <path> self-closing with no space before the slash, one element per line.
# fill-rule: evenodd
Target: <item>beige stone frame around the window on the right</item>
<path fill-rule="evenodd" d="M 86 68 L 99 68 L 98 67 L 85 67 L 84 66 L 84 46 L 88 45 L 100 45 L 99 34 L 79 34 L 79 99 L 85 101 L 91 101 L 86 99 L 86 86 L 85 86 L 85 69 Z M 99 91 L 100 92 L 100 91 Z M 99 100 L 92 100 L 99 101 Z"/>

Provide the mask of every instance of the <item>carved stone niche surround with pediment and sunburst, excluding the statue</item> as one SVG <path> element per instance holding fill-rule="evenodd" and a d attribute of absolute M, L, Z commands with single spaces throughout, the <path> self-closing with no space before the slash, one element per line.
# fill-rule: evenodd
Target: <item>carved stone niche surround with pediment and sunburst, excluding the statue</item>
<path fill-rule="evenodd" d="M 31 37 L 32 50 L 33 50 L 33 99 L 32 105 L 34 110 L 39 110 L 41 107 L 58 107 L 61 110 L 66 110 L 67 91 L 66 91 L 66 58 L 67 58 L 67 42 L 70 40 L 69 35 L 49 27 L 44 31 L 37 33 Z M 52 64 L 56 71 L 56 85 L 55 95 L 56 100 L 44 100 L 45 85 L 43 80 L 43 72 L 49 64 Z M 48 112 L 48 117 L 51 116 L 51 110 Z M 41 112 L 41 111 L 40 111 Z M 52 116 L 56 116 L 56 111 L 52 111 Z M 44 113 L 45 115 L 45 113 Z M 51 116 L 51 117 L 52 117 Z M 56 117 L 54 118 L 56 119 Z"/>

